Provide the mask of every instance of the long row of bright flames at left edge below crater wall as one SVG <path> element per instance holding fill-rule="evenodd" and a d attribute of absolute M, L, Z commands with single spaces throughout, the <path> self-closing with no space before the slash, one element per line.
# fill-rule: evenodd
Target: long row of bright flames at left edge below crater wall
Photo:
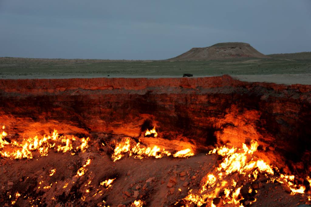
<path fill-rule="evenodd" d="M 2 129 L 5 127 L 3 126 Z M 33 152 L 39 152 L 40 156 L 47 156 L 49 149 L 54 149 L 57 152 L 68 152 L 71 151 L 72 155 L 76 152 L 85 152 L 88 148 L 89 137 L 67 138 L 64 135 L 59 135 L 56 130 L 54 130 L 52 135 L 44 135 L 39 138 L 35 136 L 33 138 L 23 139 L 22 142 L 16 140 L 9 140 L 6 138 L 7 133 L 2 131 L 0 134 L 0 154 L 3 157 L 9 157 L 12 159 L 22 159 L 22 158 L 33 158 Z M 5 148 L 5 150 L 4 150 Z"/>

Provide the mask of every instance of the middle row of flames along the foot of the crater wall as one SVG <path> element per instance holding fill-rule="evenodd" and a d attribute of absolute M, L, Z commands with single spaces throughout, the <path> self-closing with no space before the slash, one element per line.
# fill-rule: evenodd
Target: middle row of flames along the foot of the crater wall
<path fill-rule="evenodd" d="M 162 158 L 163 156 L 170 156 L 172 152 L 160 148 L 157 145 L 145 146 L 141 142 L 136 142 L 131 138 L 123 138 L 120 142 L 115 144 L 114 153 L 111 155 L 113 161 L 120 160 L 124 154 L 128 154 L 137 159 L 144 157 Z M 190 149 L 185 149 L 176 152 L 174 157 L 189 157 L 194 153 Z"/>

